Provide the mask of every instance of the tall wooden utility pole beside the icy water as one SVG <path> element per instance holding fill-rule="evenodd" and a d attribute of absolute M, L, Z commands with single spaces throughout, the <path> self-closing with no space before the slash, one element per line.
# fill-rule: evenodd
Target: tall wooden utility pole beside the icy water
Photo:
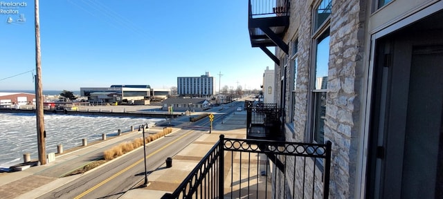
<path fill-rule="evenodd" d="M 39 0 L 35 0 L 35 113 L 37 114 L 37 148 L 40 164 L 46 164 L 46 132 L 44 131 L 42 66 L 40 53 Z"/>

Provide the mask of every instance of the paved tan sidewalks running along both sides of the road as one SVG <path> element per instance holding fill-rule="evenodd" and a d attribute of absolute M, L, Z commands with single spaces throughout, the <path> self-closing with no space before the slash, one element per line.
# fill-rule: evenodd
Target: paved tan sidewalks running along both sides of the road
<path fill-rule="evenodd" d="M 187 119 L 187 117 L 183 118 Z M 173 120 L 172 122 L 181 124 L 181 122 L 186 121 L 183 118 L 179 117 L 177 118 L 178 120 Z M 201 158 L 208 153 L 215 142 L 219 140 L 219 135 L 224 134 L 226 138 L 246 138 L 246 111 L 236 111 L 234 114 L 226 115 L 223 124 L 213 125 L 212 133 L 201 135 L 195 142 L 192 142 L 192 144 L 189 144 L 185 149 L 172 157 L 171 168 L 160 169 L 150 173 L 148 176 L 150 185 L 148 187 L 129 190 L 122 198 L 141 198 L 141 196 L 161 198 L 164 193 L 174 191 L 184 178 L 188 176 L 190 171 L 194 169 Z M 159 126 L 158 128 L 161 129 L 162 127 Z M 81 175 L 60 178 L 67 171 L 72 170 L 69 170 L 68 166 L 71 165 L 71 161 L 84 158 L 84 161 L 80 161 L 77 164 L 87 164 L 91 160 L 90 155 L 96 155 L 91 153 L 91 151 L 106 146 L 110 147 L 137 133 L 126 133 L 117 138 L 84 147 L 84 149 L 78 151 L 59 155 L 55 162 L 46 165 L 31 167 L 25 171 L 14 173 L 0 173 L 0 196 L 1 198 L 37 198 L 42 196 L 48 191 L 80 178 Z M 85 157 L 89 157 L 89 159 Z M 75 167 L 78 167 L 78 165 Z M 161 165 L 161 167 L 165 167 L 165 165 Z"/>

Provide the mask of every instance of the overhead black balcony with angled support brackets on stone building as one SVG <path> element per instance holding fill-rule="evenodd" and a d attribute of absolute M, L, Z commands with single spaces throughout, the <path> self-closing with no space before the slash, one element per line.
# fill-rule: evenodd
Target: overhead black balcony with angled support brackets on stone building
<path fill-rule="evenodd" d="M 249 0 L 248 29 L 251 37 L 251 46 L 261 48 L 266 55 L 280 65 L 269 46 L 278 46 L 288 54 L 289 47 L 282 37 L 289 27 L 288 0 Z"/>

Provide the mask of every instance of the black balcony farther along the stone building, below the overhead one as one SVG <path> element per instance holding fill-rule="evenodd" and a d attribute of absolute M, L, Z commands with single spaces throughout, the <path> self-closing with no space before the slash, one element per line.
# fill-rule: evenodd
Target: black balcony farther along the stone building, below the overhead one
<path fill-rule="evenodd" d="M 246 102 L 246 139 L 284 140 L 277 104 Z"/>

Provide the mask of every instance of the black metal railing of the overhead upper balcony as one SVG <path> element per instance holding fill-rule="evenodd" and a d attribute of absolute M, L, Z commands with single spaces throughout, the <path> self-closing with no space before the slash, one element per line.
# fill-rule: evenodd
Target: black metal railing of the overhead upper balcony
<path fill-rule="evenodd" d="M 288 0 L 249 0 L 249 17 L 289 16 Z"/>

